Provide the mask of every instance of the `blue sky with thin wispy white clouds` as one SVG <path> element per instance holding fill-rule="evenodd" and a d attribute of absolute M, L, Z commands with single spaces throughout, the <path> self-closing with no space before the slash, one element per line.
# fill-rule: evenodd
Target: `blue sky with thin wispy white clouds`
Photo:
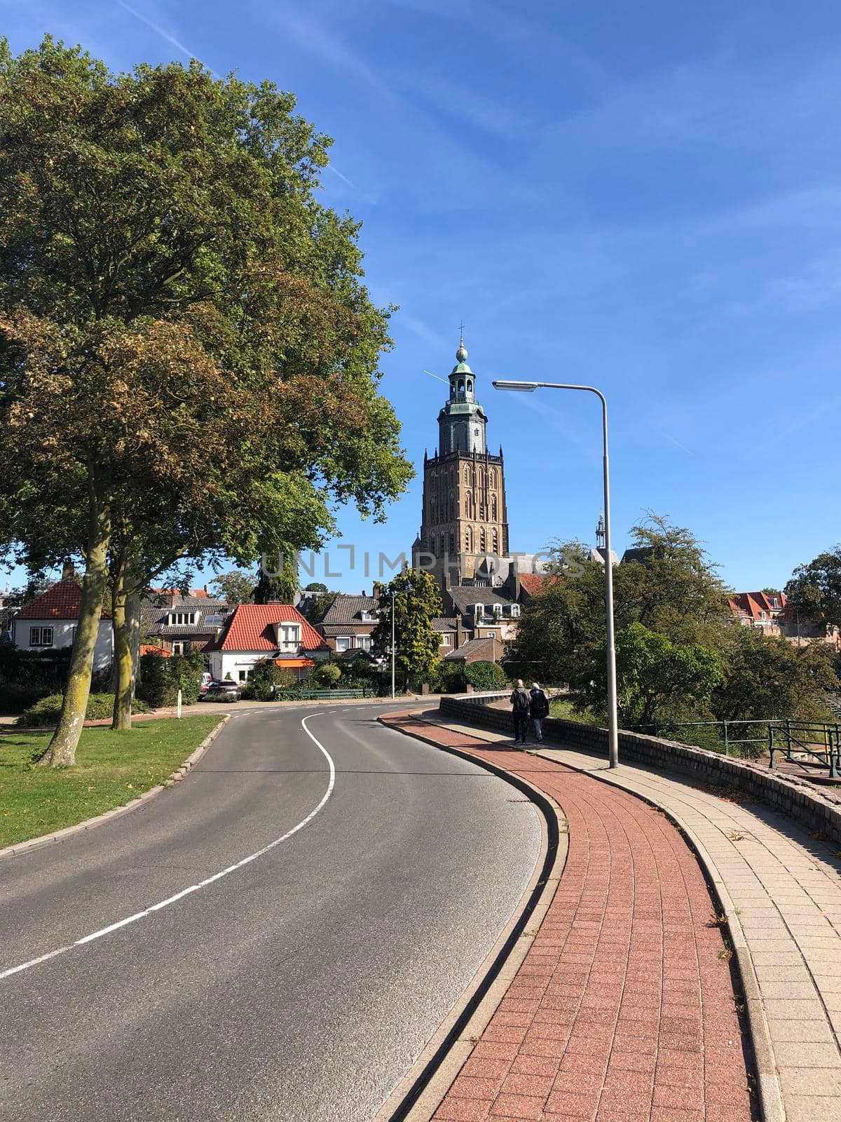
<path fill-rule="evenodd" d="M 611 410 L 614 545 L 650 508 L 738 589 L 782 585 L 841 539 L 841 9 L 811 0 L 74 0 L 0 4 L 113 68 L 186 59 L 271 79 L 335 138 L 325 197 L 363 220 L 395 303 L 383 392 L 415 461 L 434 448 L 465 322 L 510 541 L 590 541 L 598 403 L 500 394 L 583 381 Z M 389 557 L 422 479 L 343 541 Z M 332 587 L 370 586 L 343 568 Z M 372 573 L 376 574 L 376 573 Z"/>

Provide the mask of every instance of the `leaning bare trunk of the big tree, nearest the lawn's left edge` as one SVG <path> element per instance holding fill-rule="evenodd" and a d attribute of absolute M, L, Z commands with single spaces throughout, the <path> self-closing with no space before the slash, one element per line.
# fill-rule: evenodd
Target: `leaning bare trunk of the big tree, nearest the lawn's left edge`
<path fill-rule="evenodd" d="M 108 583 L 108 511 L 100 505 L 91 486 L 87 530 L 87 555 L 82 581 L 82 604 L 78 609 L 76 638 L 71 653 L 67 688 L 64 693 L 58 726 L 40 763 L 50 767 L 72 767 L 76 762 L 76 745 L 91 692 L 93 656 L 102 615 L 102 599 Z"/>

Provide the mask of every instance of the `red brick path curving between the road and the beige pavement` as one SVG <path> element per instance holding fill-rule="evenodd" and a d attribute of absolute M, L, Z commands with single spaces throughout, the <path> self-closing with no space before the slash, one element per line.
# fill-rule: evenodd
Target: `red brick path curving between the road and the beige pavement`
<path fill-rule="evenodd" d="M 551 761 L 385 719 L 523 775 L 570 824 L 555 899 L 435 1119 L 749 1122 L 724 942 L 668 820 Z"/>

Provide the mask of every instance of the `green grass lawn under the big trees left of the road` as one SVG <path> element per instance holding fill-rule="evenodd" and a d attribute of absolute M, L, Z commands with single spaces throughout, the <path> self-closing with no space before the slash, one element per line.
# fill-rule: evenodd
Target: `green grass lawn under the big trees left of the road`
<path fill-rule="evenodd" d="M 145 720 L 130 733 L 85 728 L 75 767 L 28 765 L 49 733 L 0 736 L 0 848 L 130 802 L 181 767 L 220 720 Z"/>

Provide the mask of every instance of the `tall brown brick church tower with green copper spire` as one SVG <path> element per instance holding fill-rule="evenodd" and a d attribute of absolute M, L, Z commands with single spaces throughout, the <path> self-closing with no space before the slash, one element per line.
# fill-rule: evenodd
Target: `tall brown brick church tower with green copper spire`
<path fill-rule="evenodd" d="M 462 338 L 450 374 L 450 397 L 438 413 L 438 449 L 424 453 L 424 505 L 415 563 L 442 589 L 482 580 L 484 554 L 508 553 L 502 463 L 488 452 L 488 417 L 475 399 L 475 376 Z M 420 558 L 418 554 L 424 554 Z"/>

